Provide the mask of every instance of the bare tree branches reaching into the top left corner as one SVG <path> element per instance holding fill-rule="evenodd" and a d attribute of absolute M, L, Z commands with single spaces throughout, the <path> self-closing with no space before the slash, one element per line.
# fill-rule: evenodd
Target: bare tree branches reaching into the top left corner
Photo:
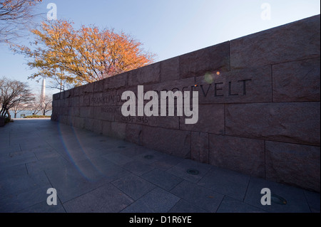
<path fill-rule="evenodd" d="M 42 0 L 0 0 L 0 42 L 19 37 L 31 19 L 33 9 Z"/>

